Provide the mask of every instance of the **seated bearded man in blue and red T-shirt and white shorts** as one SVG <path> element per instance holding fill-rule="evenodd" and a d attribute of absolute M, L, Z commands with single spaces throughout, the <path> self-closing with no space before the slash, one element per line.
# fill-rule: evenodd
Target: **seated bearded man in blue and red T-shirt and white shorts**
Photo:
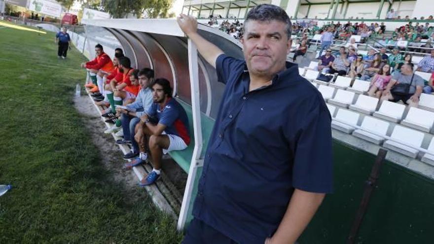
<path fill-rule="evenodd" d="M 140 117 L 141 121 L 136 126 L 135 135 L 141 152 L 140 159 L 142 162 L 146 160 L 147 147 L 152 154 L 154 165 L 152 172 L 144 176 L 139 183 L 142 186 L 154 183 L 160 176 L 163 153 L 184 150 L 190 143 L 187 114 L 183 107 L 172 98 L 170 82 L 164 78 L 156 79 L 151 89 L 153 104 L 146 110 L 145 115 Z"/>

